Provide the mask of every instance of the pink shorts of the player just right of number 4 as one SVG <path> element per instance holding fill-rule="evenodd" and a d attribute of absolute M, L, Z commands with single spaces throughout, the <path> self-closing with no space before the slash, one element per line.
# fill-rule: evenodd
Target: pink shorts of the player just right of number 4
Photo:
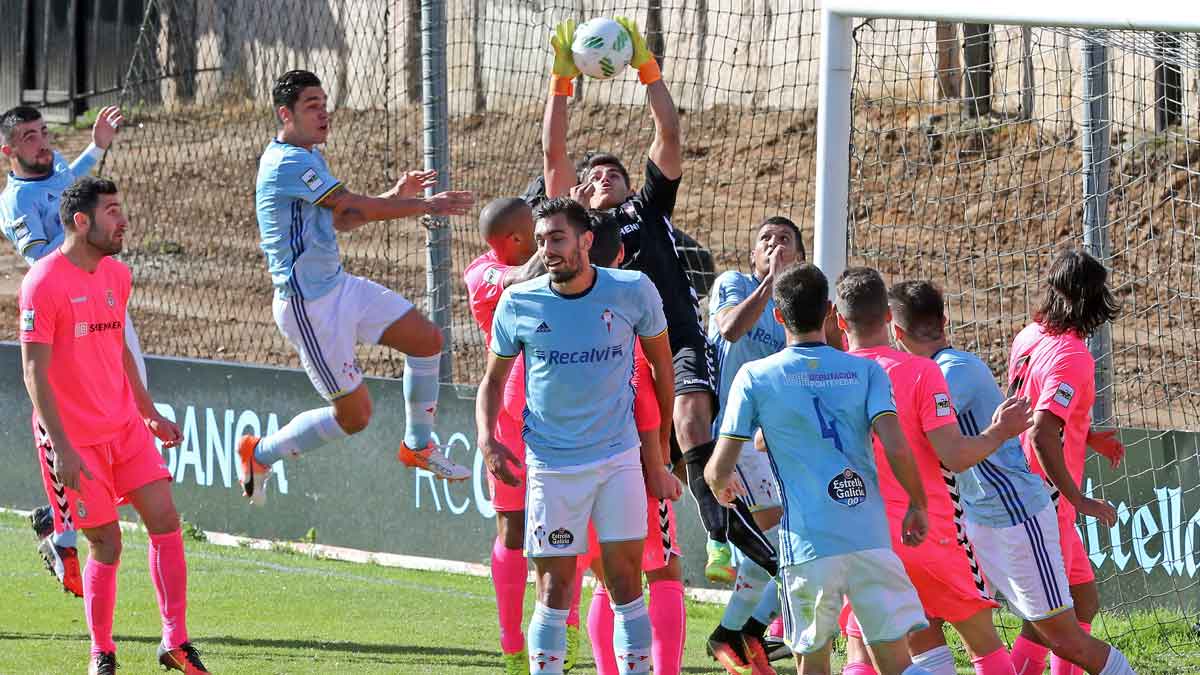
<path fill-rule="evenodd" d="M 908 580 L 930 619 L 954 623 L 1000 607 L 976 587 L 971 563 L 959 545 L 953 522 L 931 522 L 929 536 L 919 546 L 906 546 L 893 537 L 892 549 L 904 562 Z"/>

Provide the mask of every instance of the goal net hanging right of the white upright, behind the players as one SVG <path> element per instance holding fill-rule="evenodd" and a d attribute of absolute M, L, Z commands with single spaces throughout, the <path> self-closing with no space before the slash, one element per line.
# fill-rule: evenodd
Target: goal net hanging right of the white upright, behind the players
<path fill-rule="evenodd" d="M 1152 629 L 1194 655 L 1198 35 L 880 18 L 851 35 L 850 151 L 827 155 L 848 162 L 851 264 L 938 283 L 954 342 L 997 374 L 1060 250 L 1110 269 L 1122 311 L 1090 344 L 1093 413 L 1128 455 L 1116 470 L 1090 455 L 1085 489 L 1120 518 L 1079 528 L 1103 607 L 1126 611 L 1097 633 Z M 1164 605 L 1181 611 L 1138 609 Z"/>

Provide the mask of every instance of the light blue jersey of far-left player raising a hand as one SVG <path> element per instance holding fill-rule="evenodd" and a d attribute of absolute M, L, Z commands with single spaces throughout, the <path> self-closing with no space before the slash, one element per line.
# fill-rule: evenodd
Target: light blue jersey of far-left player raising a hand
<path fill-rule="evenodd" d="M 59 197 L 76 179 L 86 175 L 100 156 L 101 150 L 90 147 L 68 165 L 54 153 L 54 171 L 46 178 L 8 174 L 8 184 L 0 192 L 0 228 L 26 263 L 34 264 L 62 244 Z"/>

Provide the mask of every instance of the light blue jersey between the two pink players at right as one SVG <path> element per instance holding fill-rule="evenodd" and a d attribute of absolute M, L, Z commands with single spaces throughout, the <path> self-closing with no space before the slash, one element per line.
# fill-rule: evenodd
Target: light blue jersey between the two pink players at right
<path fill-rule="evenodd" d="M 949 347 L 934 354 L 934 360 L 950 387 L 959 429 L 964 436 L 978 436 L 1004 401 L 991 370 L 979 357 Z M 1016 438 L 1004 441 L 988 459 L 958 476 L 962 513 L 979 525 L 1020 525 L 1050 503 L 1045 483 L 1030 471 Z"/>

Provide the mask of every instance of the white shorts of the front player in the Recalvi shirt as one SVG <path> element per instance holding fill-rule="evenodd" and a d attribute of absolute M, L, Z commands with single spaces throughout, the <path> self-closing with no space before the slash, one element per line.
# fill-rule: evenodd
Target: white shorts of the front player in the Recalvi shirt
<path fill-rule="evenodd" d="M 588 521 L 601 544 L 644 539 L 646 508 L 642 454 L 636 447 L 582 466 L 528 466 L 526 556 L 586 554 Z"/>

